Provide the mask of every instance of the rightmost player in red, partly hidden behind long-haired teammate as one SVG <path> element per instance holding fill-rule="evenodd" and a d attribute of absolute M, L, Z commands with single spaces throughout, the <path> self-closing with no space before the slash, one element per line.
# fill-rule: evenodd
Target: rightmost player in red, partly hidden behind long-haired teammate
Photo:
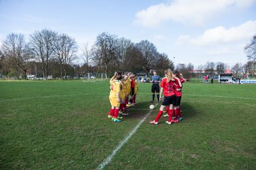
<path fill-rule="evenodd" d="M 183 82 L 186 81 L 186 79 L 183 79 L 182 74 L 180 74 L 178 71 L 176 71 L 174 73 L 175 77 L 177 77 L 179 79 L 179 81 L 181 82 L 181 84 L 183 84 Z M 178 122 L 181 121 L 182 118 L 182 113 L 181 113 L 181 96 L 182 96 L 182 85 L 181 84 L 176 84 L 176 86 L 174 86 L 174 93 L 176 96 L 176 101 L 174 103 L 174 120 L 172 120 L 173 122 Z"/>

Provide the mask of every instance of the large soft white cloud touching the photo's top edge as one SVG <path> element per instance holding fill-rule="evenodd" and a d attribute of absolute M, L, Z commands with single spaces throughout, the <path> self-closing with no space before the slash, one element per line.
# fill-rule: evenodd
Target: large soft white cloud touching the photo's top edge
<path fill-rule="evenodd" d="M 209 18 L 229 8 L 247 8 L 254 2 L 255 0 L 175 0 L 138 11 L 134 23 L 146 27 L 157 26 L 166 21 L 203 25 Z"/>

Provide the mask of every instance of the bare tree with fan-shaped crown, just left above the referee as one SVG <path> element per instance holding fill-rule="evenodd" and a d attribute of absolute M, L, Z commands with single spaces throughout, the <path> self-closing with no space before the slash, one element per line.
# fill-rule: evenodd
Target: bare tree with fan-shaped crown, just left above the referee
<path fill-rule="evenodd" d="M 159 61 L 159 52 L 153 43 L 148 40 L 142 40 L 135 45 L 139 50 L 140 57 L 142 59 L 142 68 L 146 74 L 150 69 L 154 69 L 157 61 Z"/>

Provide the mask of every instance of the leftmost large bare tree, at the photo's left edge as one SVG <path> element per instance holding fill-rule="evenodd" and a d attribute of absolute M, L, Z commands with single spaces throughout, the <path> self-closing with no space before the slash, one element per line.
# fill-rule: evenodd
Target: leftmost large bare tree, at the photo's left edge
<path fill-rule="evenodd" d="M 29 54 L 24 35 L 15 33 L 7 35 L 2 49 L 10 66 L 17 71 L 22 71 L 23 76 L 26 78 L 28 62 L 31 62 L 31 55 Z"/>

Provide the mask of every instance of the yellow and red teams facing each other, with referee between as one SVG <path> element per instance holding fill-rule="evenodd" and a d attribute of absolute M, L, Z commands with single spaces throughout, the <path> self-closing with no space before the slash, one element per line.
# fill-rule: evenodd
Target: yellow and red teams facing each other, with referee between
<path fill-rule="evenodd" d="M 169 120 L 166 121 L 169 125 L 178 123 L 183 119 L 181 113 L 181 89 L 186 79 L 183 79 L 182 74 L 177 71 L 173 74 L 171 69 L 166 69 L 164 74 L 165 77 L 161 80 L 156 70 L 154 70 L 154 75 L 151 77 L 151 103 L 154 103 L 155 92 L 158 103 L 162 101 L 155 120 L 149 122 L 155 125 L 158 124 L 159 118 L 163 113 L 167 113 L 164 116 L 169 116 Z M 161 83 L 161 88 L 159 83 Z M 108 118 L 111 118 L 116 123 L 122 122 L 122 117 L 119 114 L 128 115 L 126 109 L 136 104 L 138 90 L 137 74 L 127 73 L 122 75 L 121 72 L 116 72 L 114 77 L 110 79 L 111 108 Z M 164 95 L 164 98 L 162 95 Z"/>

